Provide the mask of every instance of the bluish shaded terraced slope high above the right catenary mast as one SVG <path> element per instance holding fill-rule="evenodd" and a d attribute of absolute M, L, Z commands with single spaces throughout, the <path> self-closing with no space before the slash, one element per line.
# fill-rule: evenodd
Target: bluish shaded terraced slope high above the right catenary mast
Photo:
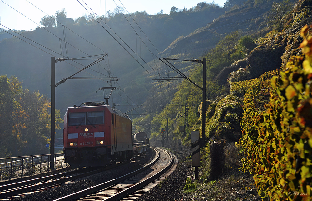
<path fill-rule="evenodd" d="M 255 1 L 248 1 L 240 7 L 233 7 L 212 22 L 207 22 L 206 26 L 176 39 L 162 54 L 167 57 L 187 52 L 194 57 L 200 57 L 203 52 L 215 48 L 215 44 L 221 37 L 234 31 L 239 31 L 242 35 L 251 35 L 254 38 L 264 37 L 269 31 L 265 27 L 271 6 L 270 1 L 258 4 Z"/>

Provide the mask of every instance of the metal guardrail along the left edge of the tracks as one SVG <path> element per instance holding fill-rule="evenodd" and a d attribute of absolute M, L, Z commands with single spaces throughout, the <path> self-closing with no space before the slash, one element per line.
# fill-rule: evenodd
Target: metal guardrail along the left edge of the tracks
<path fill-rule="evenodd" d="M 65 163 L 64 154 L 54 154 L 54 167 L 63 167 Z M 21 156 L 11 158 L 0 158 L 1 180 L 13 177 L 23 177 L 49 170 L 51 154 L 36 156 Z"/>

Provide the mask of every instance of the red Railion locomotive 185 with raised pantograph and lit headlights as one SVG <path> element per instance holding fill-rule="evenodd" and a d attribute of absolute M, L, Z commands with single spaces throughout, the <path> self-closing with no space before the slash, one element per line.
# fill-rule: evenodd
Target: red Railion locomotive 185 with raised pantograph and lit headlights
<path fill-rule="evenodd" d="M 115 87 L 102 87 L 98 90 Z M 111 95 L 109 94 L 109 96 Z M 67 108 L 64 116 L 64 156 L 72 167 L 104 166 L 130 159 L 149 149 L 149 143 L 133 146 L 132 122 L 126 113 L 104 102 Z M 148 140 L 147 140 L 148 142 Z"/>

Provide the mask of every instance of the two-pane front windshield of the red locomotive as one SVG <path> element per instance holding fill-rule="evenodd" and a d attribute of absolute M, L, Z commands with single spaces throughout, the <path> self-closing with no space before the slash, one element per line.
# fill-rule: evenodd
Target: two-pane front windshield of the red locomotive
<path fill-rule="evenodd" d="M 68 126 L 104 124 L 104 111 L 69 113 Z"/>

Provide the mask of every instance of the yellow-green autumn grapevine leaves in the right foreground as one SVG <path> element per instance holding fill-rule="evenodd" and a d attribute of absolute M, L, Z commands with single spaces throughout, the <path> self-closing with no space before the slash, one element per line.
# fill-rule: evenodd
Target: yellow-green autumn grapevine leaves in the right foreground
<path fill-rule="evenodd" d="M 254 174 L 263 200 L 312 198 L 312 37 L 307 31 L 308 26 L 301 31 L 305 54 L 290 58 L 280 78 L 272 78 L 276 92 L 264 112 L 255 110 L 255 97 L 265 80 L 253 81 L 257 85 L 245 92 L 243 169 Z"/>

